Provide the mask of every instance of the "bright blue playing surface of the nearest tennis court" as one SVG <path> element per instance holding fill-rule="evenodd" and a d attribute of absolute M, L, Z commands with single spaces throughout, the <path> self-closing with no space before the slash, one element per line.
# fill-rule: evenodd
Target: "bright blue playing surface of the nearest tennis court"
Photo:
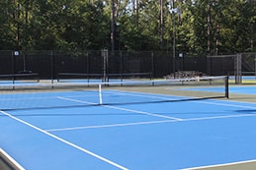
<path fill-rule="evenodd" d="M 104 101 L 149 102 L 97 105 L 97 94 L 0 95 L 0 147 L 28 170 L 176 170 L 256 160 L 254 103 L 154 103 L 173 97 L 109 90 Z M 22 97 L 42 105 L 11 109 L 2 100 Z"/>

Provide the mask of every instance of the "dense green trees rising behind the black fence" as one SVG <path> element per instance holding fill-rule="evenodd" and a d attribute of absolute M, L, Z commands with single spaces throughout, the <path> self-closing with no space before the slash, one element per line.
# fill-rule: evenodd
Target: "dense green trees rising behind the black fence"
<path fill-rule="evenodd" d="M 256 5 L 245 0 L 163 0 L 163 23 L 160 0 L 1 0 L 0 49 L 111 49 L 113 1 L 115 50 L 256 51 Z"/>

